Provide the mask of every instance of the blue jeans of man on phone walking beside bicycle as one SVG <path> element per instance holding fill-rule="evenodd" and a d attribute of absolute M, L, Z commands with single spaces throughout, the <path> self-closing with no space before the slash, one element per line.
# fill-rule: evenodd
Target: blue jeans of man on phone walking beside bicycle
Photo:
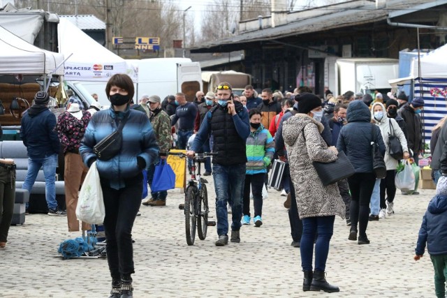
<path fill-rule="evenodd" d="M 216 190 L 217 234 L 228 234 L 228 200 L 231 206 L 231 230 L 238 231 L 242 219 L 242 197 L 244 193 L 245 163 L 240 165 L 218 165 L 212 167 Z"/>

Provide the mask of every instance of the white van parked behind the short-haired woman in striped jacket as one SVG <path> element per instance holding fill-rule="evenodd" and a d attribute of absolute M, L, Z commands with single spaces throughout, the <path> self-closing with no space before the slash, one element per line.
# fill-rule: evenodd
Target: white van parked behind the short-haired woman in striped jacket
<path fill-rule="evenodd" d="M 138 80 L 135 82 L 134 103 L 143 95 L 158 95 L 161 100 L 168 95 L 177 92 L 186 94 L 186 99 L 193 101 L 196 92 L 202 90 L 202 78 L 200 64 L 192 62 L 189 58 L 153 58 L 153 59 L 128 59 L 138 72 Z M 98 102 L 101 105 L 110 105 L 105 96 L 107 82 L 82 82 L 82 86 L 90 94 L 98 94 Z"/>

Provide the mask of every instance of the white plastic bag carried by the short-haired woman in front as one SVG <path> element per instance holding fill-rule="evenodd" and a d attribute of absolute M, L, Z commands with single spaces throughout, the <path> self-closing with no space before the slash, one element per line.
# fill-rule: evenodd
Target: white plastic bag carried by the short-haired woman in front
<path fill-rule="evenodd" d="M 103 190 L 95 161 L 91 164 L 82 184 L 76 207 L 76 217 L 85 223 L 100 225 L 104 221 L 104 216 Z"/>

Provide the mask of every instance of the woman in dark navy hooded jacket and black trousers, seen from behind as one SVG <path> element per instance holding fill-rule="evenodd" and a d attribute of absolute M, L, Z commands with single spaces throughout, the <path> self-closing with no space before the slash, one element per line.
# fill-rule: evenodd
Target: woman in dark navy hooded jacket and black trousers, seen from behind
<path fill-rule="evenodd" d="M 362 100 L 353 100 L 348 105 L 346 119 L 337 142 L 338 151 L 344 151 L 352 163 L 356 174 L 348 178 L 351 190 L 351 231 L 349 240 L 357 240 L 358 244 L 369 244 L 366 234 L 369 218 L 369 200 L 371 199 L 376 176 L 372 168 L 371 142 L 373 136 L 379 144 L 382 156 L 386 147 L 383 143 L 380 128 L 371 124 L 371 111 Z M 358 230 L 357 230 L 358 225 Z"/>

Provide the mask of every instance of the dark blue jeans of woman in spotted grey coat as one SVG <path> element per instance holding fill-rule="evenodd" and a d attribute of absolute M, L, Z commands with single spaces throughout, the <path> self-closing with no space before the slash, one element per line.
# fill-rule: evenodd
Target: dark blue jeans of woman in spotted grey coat
<path fill-rule="evenodd" d="M 315 270 L 325 271 L 329 254 L 329 242 L 334 232 L 335 216 L 317 216 L 302 218 L 302 237 L 300 242 L 301 267 L 303 271 L 312 271 L 315 233 Z"/>

